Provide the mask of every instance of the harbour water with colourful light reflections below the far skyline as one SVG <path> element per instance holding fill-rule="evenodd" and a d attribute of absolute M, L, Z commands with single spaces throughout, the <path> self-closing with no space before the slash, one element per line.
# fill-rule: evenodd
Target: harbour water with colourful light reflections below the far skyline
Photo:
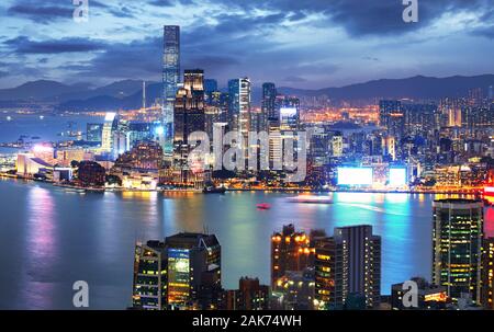
<path fill-rule="evenodd" d="M 274 230 L 369 224 L 382 237 L 382 293 L 412 276 L 430 275 L 430 195 L 333 194 L 334 204 L 294 204 L 293 194 L 69 194 L 35 183 L 0 181 L 0 309 L 70 309 L 75 281 L 90 285 L 93 309 L 130 305 L 133 245 L 178 231 L 216 233 L 223 284 L 244 275 L 269 283 Z M 269 203 L 269 210 L 256 204 Z M 494 211 L 486 211 L 494 236 Z M 4 268 L 3 268 L 4 267 Z"/>

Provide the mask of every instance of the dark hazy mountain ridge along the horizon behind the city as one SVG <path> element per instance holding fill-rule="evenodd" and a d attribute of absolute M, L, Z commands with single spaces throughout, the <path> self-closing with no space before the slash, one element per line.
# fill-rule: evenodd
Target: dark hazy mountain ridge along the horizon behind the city
<path fill-rule="evenodd" d="M 326 96 L 334 101 L 355 101 L 371 99 L 430 100 L 445 96 L 468 95 L 468 91 L 481 88 L 484 95 L 494 85 L 494 75 L 473 77 L 454 76 L 434 78 L 416 76 L 405 79 L 381 79 L 340 88 L 306 90 L 281 87 L 279 93 L 303 96 Z M 64 84 L 49 80 L 37 80 L 16 88 L 0 90 L 1 104 L 25 102 L 55 103 L 59 111 L 110 111 L 132 110 L 142 105 L 143 82 L 123 80 L 111 84 L 91 88 L 89 84 Z M 161 95 L 161 83 L 147 82 L 146 103 L 153 103 Z M 252 103 L 260 104 L 261 88 L 252 88 Z"/>

